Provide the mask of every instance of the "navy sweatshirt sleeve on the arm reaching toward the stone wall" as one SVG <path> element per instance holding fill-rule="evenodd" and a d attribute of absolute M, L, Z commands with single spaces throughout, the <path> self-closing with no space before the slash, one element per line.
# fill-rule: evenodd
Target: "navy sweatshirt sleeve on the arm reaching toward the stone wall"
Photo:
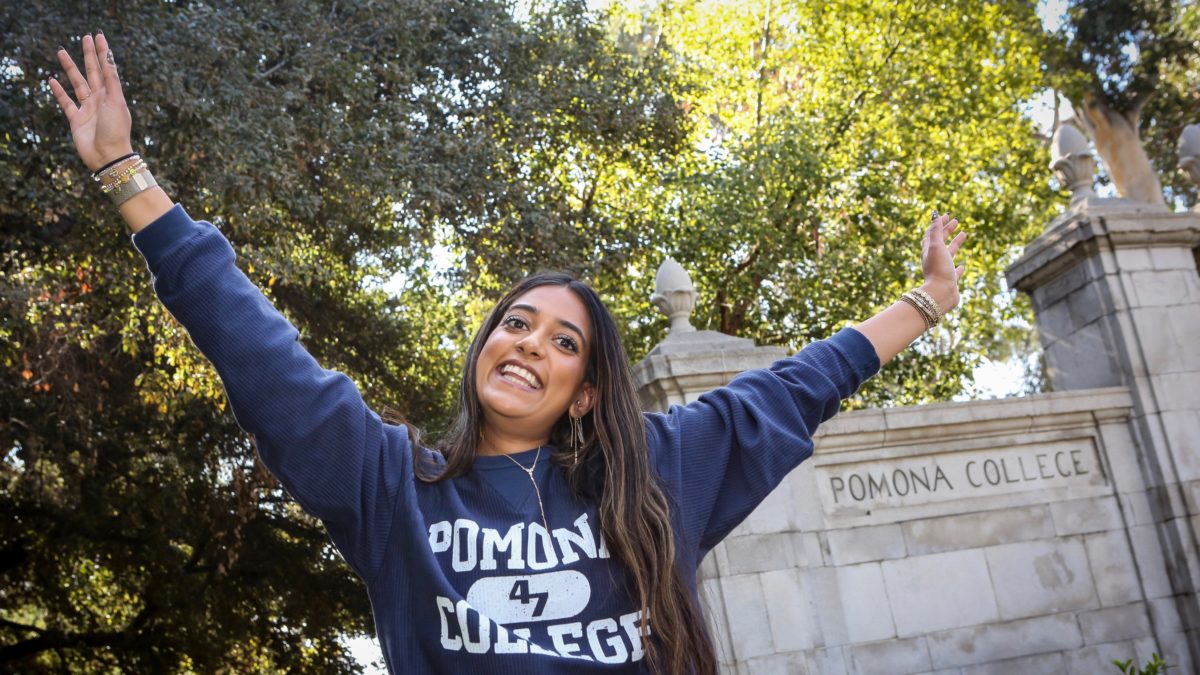
<path fill-rule="evenodd" d="M 770 368 L 743 372 L 667 413 L 648 413 L 655 467 L 680 509 L 684 540 L 703 555 L 812 454 L 817 425 L 880 369 L 853 328 Z"/>

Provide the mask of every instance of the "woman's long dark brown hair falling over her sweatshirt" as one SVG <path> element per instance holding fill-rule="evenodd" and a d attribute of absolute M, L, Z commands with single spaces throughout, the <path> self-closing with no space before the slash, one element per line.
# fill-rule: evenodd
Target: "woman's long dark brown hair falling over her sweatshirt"
<path fill-rule="evenodd" d="M 484 342 L 520 295 L 538 286 L 564 286 L 587 307 L 592 319 L 592 350 L 584 380 L 596 401 L 582 419 L 584 444 L 578 464 L 570 450 L 568 413 L 551 430 L 553 459 L 565 472 L 575 495 L 598 504 L 600 531 L 613 557 L 631 581 L 629 599 L 642 610 L 649 638 L 643 635 L 652 673 L 716 673 L 716 652 L 700 608 L 692 602 L 684 571 L 676 563 L 667 496 L 650 470 L 646 422 L 638 406 L 629 358 L 617 324 L 590 286 L 565 274 L 539 274 L 514 286 L 479 328 L 463 368 L 458 419 L 442 444 L 444 465 L 421 461 L 419 436 L 410 429 L 418 478 L 437 482 L 466 473 L 475 459 L 484 411 L 475 389 L 475 366 Z"/>

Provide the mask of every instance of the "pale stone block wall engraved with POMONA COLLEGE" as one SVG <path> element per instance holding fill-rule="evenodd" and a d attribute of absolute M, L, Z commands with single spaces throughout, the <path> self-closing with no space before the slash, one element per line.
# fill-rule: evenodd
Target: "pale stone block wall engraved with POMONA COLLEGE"
<path fill-rule="evenodd" d="M 1097 673 L 1166 651 L 1172 608 L 1128 392 L 839 416 L 714 549 L 702 596 L 728 673 Z M 850 485 L 856 485 L 851 488 Z M 1145 496 L 1145 495 L 1142 495 Z M 1166 611 L 1159 607 L 1166 603 Z"/>

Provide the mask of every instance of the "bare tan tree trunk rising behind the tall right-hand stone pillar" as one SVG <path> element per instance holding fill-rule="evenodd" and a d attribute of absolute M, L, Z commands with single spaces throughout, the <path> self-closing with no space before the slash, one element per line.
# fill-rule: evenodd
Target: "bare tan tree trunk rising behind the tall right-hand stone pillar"
<path fill-rule="evenodd" d="M 1088 94 L 1082 107 L 1074 107 L 1075 119 L 1096 144 L 1096 151 L 1100 155 L 1117 195 L 1135 202 L 1164 204 L 1163 184 L 1150 163 L 1138 132 L 1141 106 L 1121 113 Z"/>

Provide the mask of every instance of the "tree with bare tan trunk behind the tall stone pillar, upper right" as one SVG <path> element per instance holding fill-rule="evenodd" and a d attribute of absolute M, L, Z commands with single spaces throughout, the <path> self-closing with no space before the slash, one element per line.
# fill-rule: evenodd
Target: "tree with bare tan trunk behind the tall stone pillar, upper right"
<path fill-rule="evenodd" d="M 1200 8 L 1174 0 L 1076 0 L 1045 62 L 1096 144 L 1117 193 L 1194 202 L 1175 143 L 1200 110 Z M 1148 153 L 1147 153 L 1148 150 Z"/>

